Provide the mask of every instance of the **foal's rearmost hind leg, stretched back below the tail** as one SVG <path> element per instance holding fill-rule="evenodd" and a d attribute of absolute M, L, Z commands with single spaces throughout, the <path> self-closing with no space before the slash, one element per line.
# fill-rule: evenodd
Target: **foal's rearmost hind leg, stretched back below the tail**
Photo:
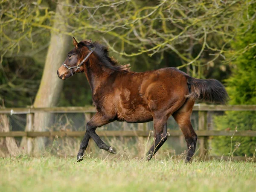
<path fill-rule="evenodd" d="M 187 161 L 189 162 L 195 153 L 197 135 L 192 127 L 190 116 L 192 113 L 194 101 L 188 99 L 185 104 L 175 113 L 173 117 L 179 125 L 188 147 Z"/>

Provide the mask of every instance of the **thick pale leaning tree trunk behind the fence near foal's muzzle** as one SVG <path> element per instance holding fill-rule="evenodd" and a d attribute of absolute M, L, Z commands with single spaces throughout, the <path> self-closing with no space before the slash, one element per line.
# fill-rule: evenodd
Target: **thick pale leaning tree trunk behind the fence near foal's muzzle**
<path fill-rule="evenodd" d="M 66 18 L 64 15 L 65 12 L 67 12 L 67 7 L 62 6 L 62 3 L 65 4 L 66 1 L 58 0 L 53 28 L 59 29 L 60 31 L 67 31 L 67 27 L 64 24 Z M 63 81 L 58 79 L 56 71 L 66 57 L 68 45 L 71 42 L 71 40 L 69 40 L 70 38 L 67 35 L 52 31 L 41 84 L 33 105 L 35 108 L 52 107 L 58 102 Z M 51 125 L 52 118 L 53 116 L 50 113 L 35 113 L 34 130 L 45 131 Z M 35 143 L 38 145 L 39 149 L 44 149 L 42 138 L 38 138 Z M 35 150 L 37 150 L 38 147 L 36 147 Z"/>

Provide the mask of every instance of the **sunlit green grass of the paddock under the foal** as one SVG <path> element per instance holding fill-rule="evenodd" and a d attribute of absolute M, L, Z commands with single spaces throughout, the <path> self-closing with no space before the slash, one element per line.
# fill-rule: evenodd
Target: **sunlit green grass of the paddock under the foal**
<path fill-rule="evenodd" d="M 21 156 L 0 159 L 0 191 L 250 192 L 256 164 Z"/>

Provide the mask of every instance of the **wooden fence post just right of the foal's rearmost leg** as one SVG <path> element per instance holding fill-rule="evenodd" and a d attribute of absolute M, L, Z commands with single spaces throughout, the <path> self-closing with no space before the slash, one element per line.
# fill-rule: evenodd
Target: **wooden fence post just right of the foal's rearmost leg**
<path fill-rule="evenodd" d="M 207 111 L 198 111 L 198 130 L 207 130 Z M 208 147 L 208 138 L 199 137 L 199 156 L 203 157 L 204 149 Z"/>

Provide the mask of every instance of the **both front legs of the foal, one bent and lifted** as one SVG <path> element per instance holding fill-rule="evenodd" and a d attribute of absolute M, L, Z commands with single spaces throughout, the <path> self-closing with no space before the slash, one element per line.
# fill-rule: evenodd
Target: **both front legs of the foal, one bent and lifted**
<path fill-rule="evenodd" d="M 95 141 L 95 143 L 97 144 L 97 146 L 101 149 L 104 149 L 105 151 L 108 151 L 110 153 L 116 154 L 116 150 L 115 148 L 113 148 L 112 146 L 109 147 L 108 145 L 106 145 L 99 137 L 98 134 L 96 134 L 95 130 L 97 127 L 101 127 L 103 125 L 106 125 L 110 122 L 113 122 L 112 119 L 107 118 L 104 114 L 102 113 L 96 113 L 89 122 L 87 122 L 86 124 L 86 133 L 84 135 L 84 139 L 82 140 L 82 143 L 80 145 L 80 149 L 79 149 L 79 153 L 77 155 L 77 160 L 81 161 L 82 160 L 82 156 L 84 154 L 84 150 L 86 149 L 89 139 L 90 137 L 93 138 L 93 140 Z"/>

